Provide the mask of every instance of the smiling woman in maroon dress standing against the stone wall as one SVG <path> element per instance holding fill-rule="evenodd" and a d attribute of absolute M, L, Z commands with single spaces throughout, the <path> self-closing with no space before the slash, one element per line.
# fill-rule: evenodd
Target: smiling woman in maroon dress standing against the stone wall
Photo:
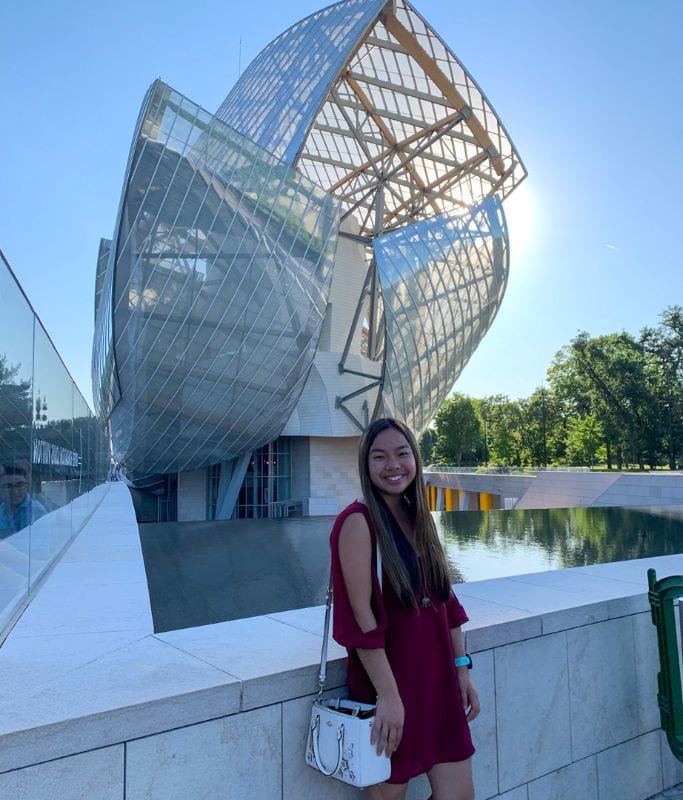
<path fill-rule="evenodd" d="M 472 800 L 468 722 L 479 700 L 464 665 L 467 616 L 451 590 L 415 437 L 398 420 L 376 420 L 358 471 L 364 502 L 344 509 L 331 535 L 334 638 L 348 650 L 350 696 L 377 702 L 373 743 L 391 757 L 391 777 L 370 795 L 403 800 L 408 781 L 426 772 L 432 800 Z"/>

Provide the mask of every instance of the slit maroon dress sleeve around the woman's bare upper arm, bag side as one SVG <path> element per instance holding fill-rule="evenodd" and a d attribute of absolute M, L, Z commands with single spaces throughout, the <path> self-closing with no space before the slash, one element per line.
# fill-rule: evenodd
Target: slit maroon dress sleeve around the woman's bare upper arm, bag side
<path fill-rule="evenodd" d="M 343 647 L 350 649 L 361 647 L 363 649 L 373 650 L 384 647 L 384 631 L 387 626 L 387 619 L 384 603 L 382 602 L 382 593 L 379 588 L 379 581 L 377 580 L 377 553 L 375 549 L 375 537 L 372 528 L 370 528 L 370 536 L 373 547 L 372 610 L 375 614 L 375 619 L 377 620 L 377 627 L 370 631 L 362 631 L 356 622 L 356 617 L 354 616 L 353 609 L 351 608 L 351 603 L 349 601 L 349 596 L 346 591 L 344 576 L 341 570 L 341 563 L 339 561 L 339 534 L 341 532 L 342 525 L 349 514 L 356 511 L 362 513 L 360 504 L 358 505 L 359 508 L 350 506 L 342 511 L 342 513 L 335 520 L 332 528 L 332 534 L 330 536 L 333 597 L 332 636 L 334 637 L 334 640 Z"/>

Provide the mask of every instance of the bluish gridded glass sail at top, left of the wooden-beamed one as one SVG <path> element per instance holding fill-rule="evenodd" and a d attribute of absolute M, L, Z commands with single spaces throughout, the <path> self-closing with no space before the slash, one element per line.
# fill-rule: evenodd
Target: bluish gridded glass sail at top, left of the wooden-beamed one
<path fill-rule="evenodd" d="M 330 86 L 386 0 L 344 0 L 280 34 L 244 71 L 218 119 L 294 163 Z"/>

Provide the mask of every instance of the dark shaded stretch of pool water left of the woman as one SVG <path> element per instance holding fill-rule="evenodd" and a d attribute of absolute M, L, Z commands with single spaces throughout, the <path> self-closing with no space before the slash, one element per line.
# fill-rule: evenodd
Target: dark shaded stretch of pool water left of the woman
<path fill-rule="evenodd" d="M 154 631 L 324 603 L 332 521 L 139 525 Z"/>

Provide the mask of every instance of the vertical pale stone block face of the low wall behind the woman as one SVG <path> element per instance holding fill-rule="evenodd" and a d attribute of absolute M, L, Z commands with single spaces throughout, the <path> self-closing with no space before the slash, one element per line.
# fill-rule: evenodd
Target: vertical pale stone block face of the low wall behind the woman
<path fill-rule="evenodd" d="M 645 800 L 683 780 L 659 730 L 649 612 L 473 656 L 483 705 L 472 725 L 478 800 Z M 360 792 L 304 765 L 312 698 L 171 723 L 9 770 L 0 774 L 0 797 L 47 800 L 58 785 L 62 800 L 359 800 Z M 424 779 L 413 782 L 410 800 L 428 796 Z"/>

